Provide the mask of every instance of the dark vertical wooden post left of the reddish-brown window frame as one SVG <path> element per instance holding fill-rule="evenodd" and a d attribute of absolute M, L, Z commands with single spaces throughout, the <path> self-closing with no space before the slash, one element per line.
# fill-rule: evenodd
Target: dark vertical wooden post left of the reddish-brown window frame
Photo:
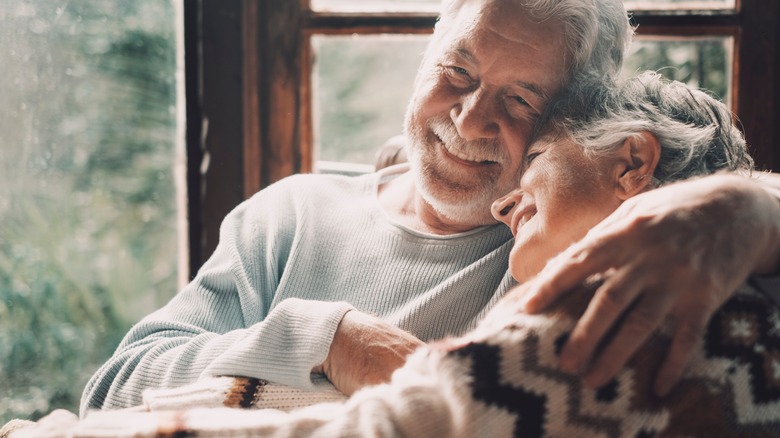
<path fill-rule="evenodd" d="M 219 226 L 244 199 L 240 0 L 185 2 L 190 276 L 211 256 Z"/>

